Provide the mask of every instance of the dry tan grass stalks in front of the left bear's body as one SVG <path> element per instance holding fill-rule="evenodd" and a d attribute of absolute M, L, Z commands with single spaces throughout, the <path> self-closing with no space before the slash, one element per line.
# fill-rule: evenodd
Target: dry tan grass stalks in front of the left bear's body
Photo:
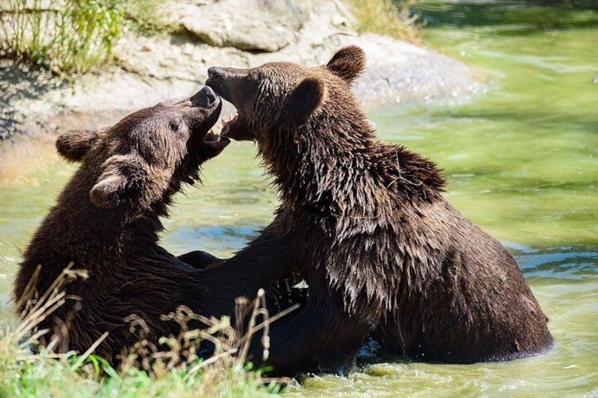
<path fill-rule="evenodd" d="M 40 268 L 37 269 L 35 278 L 39 278 Z M 126 321 L 130 323 L 132 334 L 140 337 L 140 340 L 123 353 L 125 354 L 124 359 L 120 372 L 117 373 L 110 368 L 107 361 L 92 355 L 109 337 L 109 332 L 104 332 L 83 354 L 75 356 L 75 352 L 72 351 L 66 352 L 66 354 L 54 352 L 54 350 L 63 352 L 68 347 L 59 345 L 63 344 L 60 335 L 46 337 L 52 328 L 37 330 L 44 319 L 52 316 L 56 309 L 71 299 L 64 291 L 64 287 L 76 278 L 87 278 L 87 273 L 82 270 L 73 270 L 73 263 L 69 263 L 59 278 L 56 278 L 48 290 L 41 295 L 35 290 L 37 280 L 30 281 L 26 289 L 28 297 L 20 298 L 22 300 L 20 303 L 24 308 L 21 312 L 23 321 L 14 332 L 6 332 L 6 341 L 13 342 L 13 345 L 11 347 L 7 345 L 5 350 L 6 353 L 12 353 L 11 361 L 18 361 L 19 366 L 36 367 L 41 364 L 51 367 L 51 361 L 56 359 L 58 360 L 56 363 L 60 363 L 56 366 L 60 366 L 63 372 L 71 372 L 81 380 L 86 378 L 101 380 L 104 377 L 102 374 L 104 374 L 114 375 L 118 379 L 118 383 L 123 383 L 128 375 L 135 375 L 140 371 L 145 373 L 145 380 L 162 380 L 182 373 L 180 380 L 183 380 L 184 383 L 194 384 L 198 383 L 197 380 L 202 380 L 201 383 L 210 386 L 207 387 L 206 392 L 212 391 L 214 388 L 216 390 L 213 391 L 219 391 L 217 388 L 226 389 L 226 385 L 234 385 L 235 388 L 240 387 L 243 390 L 243 388 L 248 388 L 248 383 L 251 383 L 250 388 L 260 390 L 264 388 L 265 379 L 262 379 L 259 373 L 248 372 L 245 367 L 248 353 L 250 349 L 254 349 L 251 344 L 256 340 L 257 333 L 263 332 L 261 336 L 262 359 L 267 359 L 270 323 L 299 307 L 297 304 L 275 316 L 269 316 L 264 290 L 260 290 L 257 297 L 251 301 L 248 299 L 236 301 L 238 303 L 237 326 L 239 327 L 233 328 L 230 318 L 206 318 L 196 315 L 185 306 L 180 306 L 176 311 L 161 317 L 163 321 L 174 321 L 180 325 L 178 335 L 161 337 L 158 342 L 149 339 L 152 332 L 144 319 L 130 316 Z M 85 305 L 85 303 L 82 304 Z M 243 320 L 248 321 L 248 328 L 245 335 L 241 336 L 240 326 L 243 325 Z M 49 344 L 36 354 L 30 347 L 37 344 L 42 338 Z M 209 344 L 209 347 L 214 347 L 214 353 L 208 358 L 200 360 L 202 356 L 200 349 L 204 349 L 204 343 Z M 90 361 L 87 361 L 88 359 Z M 102 369 L 106 369 L 105 373 Z M 0 376 L 2 375 L 0 369 Z M 147 378 L 147 375 L 150 375 L 150 378 Z M 268 383 L 284 381 L 288 380 L 267 380 Z M 1 386 L 0 383 L 0 388 Z"/>

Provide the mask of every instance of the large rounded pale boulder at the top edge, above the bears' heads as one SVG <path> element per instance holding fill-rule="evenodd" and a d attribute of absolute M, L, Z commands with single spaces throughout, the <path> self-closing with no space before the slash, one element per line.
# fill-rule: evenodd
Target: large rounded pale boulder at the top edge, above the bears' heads
<path fill-rule="evenodd" d="M 310 14 L 310 3 L 221 0 L 205 6 L 184 7 L 181 20 L 186 30 L 211 46 L 271 52 L 293 41 Z"/>

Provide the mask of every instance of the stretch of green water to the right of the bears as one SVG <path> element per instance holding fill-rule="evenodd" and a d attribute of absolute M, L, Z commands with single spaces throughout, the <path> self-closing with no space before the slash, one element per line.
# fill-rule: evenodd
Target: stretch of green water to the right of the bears
<path fill-rule="evenodd" d="M 426 41 L 492 89 L 465 106 L 370 117 L 384 139 L 434 158 L 451 203 L 515 254 L 554 348 L 465 366 L 374 356 L 291 395 L 598 397 L 598 2 L 544 3 L 422 1 Z"/>

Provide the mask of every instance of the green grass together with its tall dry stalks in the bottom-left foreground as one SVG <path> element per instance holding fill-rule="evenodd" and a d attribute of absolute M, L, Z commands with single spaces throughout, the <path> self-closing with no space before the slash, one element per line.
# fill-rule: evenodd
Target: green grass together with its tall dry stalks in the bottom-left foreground
<path fill-rule="evenodd" d="M 251 337 L 263 333 L 262 341 L 267 342 L 269 323 L 284 315 L 268 318 L 263 290 L 252 302 L 243 301 L 245 308 L 252 310 L 247 335 L 238 338 L 228 318 L 202 318 L 179 307 L 164 316 L 164 320 L 181 325 L 178 336 L 160 340 L 168 349 L 141 340 L 130 347 L 116 370 L 93 354 L 107 332 L 85 353 L 56 354 L 52 351 L 56 341 L 48 347 L 37 344 L 39 336 L 47 332 L 38 330 L 37 325 L 65 303 L 63 282 L 73 275 L 85 278 L 85 273 L 69 266 L 46 294 L 28 301 L 27 315 L 19 325 L 0 331 L 0 397 L 267 397 L 279 392 L 283 380 L 266 380 L 246 364 Z M 257 316 L 264 316 L 265 321 L 256 325 Z M 191 319 L 207 328 L 188 330 Z M 215 347 L 213 356 L 205 360 L 195 355 L 202 340 Z M 265 343 L 264 353 L 268 348 Z"/>

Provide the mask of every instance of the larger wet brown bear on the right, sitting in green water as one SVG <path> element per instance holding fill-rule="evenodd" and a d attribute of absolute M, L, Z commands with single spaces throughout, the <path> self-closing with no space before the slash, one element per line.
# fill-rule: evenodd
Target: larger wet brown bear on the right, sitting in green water
<path fill-rule="evenodd" d="M 437 166 L 384 144 L 350 92 L 348 46 L 326 66 L 209 69 L 282 204 L 264 236 L 307 224 L 306 306 L 270 330 L 276 373 L 336 367 L 368 333 L 411 358 L 470 363 L 545 352 L 552 338 L 515 260 L 442 197 Z M 226 132 L 228 130 L 228 132 Z"/>

